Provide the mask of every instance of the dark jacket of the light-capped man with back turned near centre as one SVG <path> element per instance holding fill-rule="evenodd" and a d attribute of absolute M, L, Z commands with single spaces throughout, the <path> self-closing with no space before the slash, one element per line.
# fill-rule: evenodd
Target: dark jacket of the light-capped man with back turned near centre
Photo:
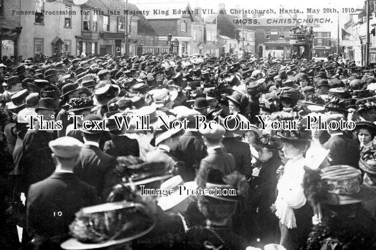
<path fill-rule="evenodd" d="M 225 175 L 229 175 L 235 171 L 235 159 L 232 154 L 226 153 L 223 148 L 215 148 L 208 150 L 208 156 L 201 160 L 200 169 L 197 173 L 197 184 L 205 186 L 208 174 L 211 169 L 219 169 Z"/>

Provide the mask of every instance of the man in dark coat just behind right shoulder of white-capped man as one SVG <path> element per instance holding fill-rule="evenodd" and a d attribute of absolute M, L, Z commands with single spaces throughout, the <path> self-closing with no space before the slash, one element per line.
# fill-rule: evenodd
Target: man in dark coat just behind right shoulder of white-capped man
<path fill-rule="evenodd" d="M 101 117 L 96 114 L 88 114 L 84 118 L 86 121 L 101 121 Z M 103 130 L 95 130 L 95 126 L 84 126 L 80 128 L 84 135 L 84 145 L 79 155 L 79 164 L 75 167 L 75 174 L 84 182 L 93 185 L 98 196 L 103 192 L 103 184 L 106 175 L 111 174 L 115 166 L 115 158 L 99 149 L 99 141 Z M 102 197 L 100 197 L 102 198 Z M 106 198 L 106 197 L 104 197 Z"/>

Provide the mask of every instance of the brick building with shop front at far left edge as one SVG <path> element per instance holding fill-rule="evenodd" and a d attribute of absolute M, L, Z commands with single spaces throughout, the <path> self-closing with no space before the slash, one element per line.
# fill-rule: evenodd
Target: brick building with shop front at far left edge
<path fill-rule="evenodd" d="M 15 56 L 18 59 L 20 46 L 21 21 L 20 0 L 1 0 L 0 1 L 0 40 L 1 54 L 0 57 Z M 25 58 L 24 58 L 25 59 Z"/>

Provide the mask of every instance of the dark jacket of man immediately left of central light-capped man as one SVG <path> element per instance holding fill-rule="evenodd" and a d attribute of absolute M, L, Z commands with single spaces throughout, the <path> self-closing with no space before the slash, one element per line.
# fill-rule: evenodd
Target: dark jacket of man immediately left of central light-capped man
<path fill-rule="evenodd" d="M 196 170 L 200 166 L 200 161 L 207 155 L 206 146 L 201 134 L 197 131 L 186 131 L 179 138 L 179 145 L 175 155 L 187 166 L 187 175 L 182 177 L 183 180 L 194 180 Z"/>

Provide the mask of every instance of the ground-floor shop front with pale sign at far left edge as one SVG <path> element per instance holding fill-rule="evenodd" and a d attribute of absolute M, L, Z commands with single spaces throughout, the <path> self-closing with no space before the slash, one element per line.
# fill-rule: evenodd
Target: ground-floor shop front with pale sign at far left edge
<path fill-rule="evenodd" d="M 17 42 L 18 36 L 21 33 L 21 28 L 0 28 L 0 40 L 1 40 L 1 54 L 0 58 L 3 56 L 14 56 L 17 58 L 18 51 L 17 51 Z"/>

